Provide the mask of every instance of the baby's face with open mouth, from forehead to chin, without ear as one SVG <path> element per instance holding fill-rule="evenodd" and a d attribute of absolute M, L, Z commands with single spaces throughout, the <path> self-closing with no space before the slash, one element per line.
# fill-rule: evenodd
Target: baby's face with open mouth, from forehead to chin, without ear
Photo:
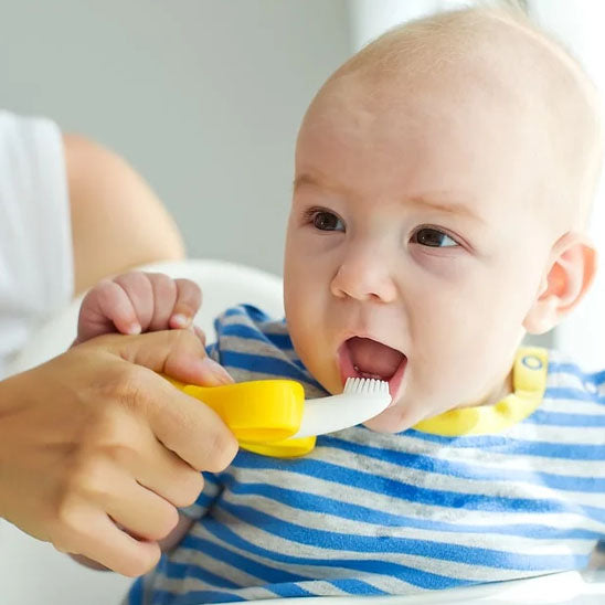
<path fill-rule="evenodd" d="M 452 89 L 450 89 L 452 88 Z M 330 392 L 389 381 L 399 432 L 507 388 L 552 245 L 531 124 L 490 91 L 328 85 L 300 130 L 286 317 Z M 538 176 L 538 178 L 537 178 Z"/>

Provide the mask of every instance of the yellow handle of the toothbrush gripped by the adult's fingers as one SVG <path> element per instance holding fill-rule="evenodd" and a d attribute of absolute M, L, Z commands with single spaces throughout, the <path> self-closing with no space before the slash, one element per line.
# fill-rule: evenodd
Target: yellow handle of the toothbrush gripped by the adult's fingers
<path fill-rule="evenodd" d="M 256 380 L 222 386 L 197 386 L 169 379 L 178 389 L 212 407 L 230 427 L 243 447 L 257 450 L 278 446 L 300 427 L 305 391 L 294 380 Z M 315 438 L 311 437 L 315 444 Z M 308 439 L 290 439 L 279 444 L 282 455 L 299 456 Z M 297 443 L 295 443 L 297 442 Z M 305 442 L 300 444 L 299 442 Z M 311 446 L 312 448 L 312 446 Z M 297 452 L 297 453 L 294 453 Z M 262 452 L 258 452 L 259 454 Z M 267 455 L 273 455 L 266 453 Z"/>

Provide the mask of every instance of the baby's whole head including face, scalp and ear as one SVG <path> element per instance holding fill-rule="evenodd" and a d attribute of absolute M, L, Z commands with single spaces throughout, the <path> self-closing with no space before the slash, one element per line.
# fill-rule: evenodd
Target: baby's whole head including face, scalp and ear
<path fill-rule="evenodd" d="M 319 91 L 296 149 L 286 317 L 328 391 L 389 380 L 369 427 L 495 403 L 524 333 L 581 299 L 596 107 L 556 43 L 485 8 L 400 26 Z"/>

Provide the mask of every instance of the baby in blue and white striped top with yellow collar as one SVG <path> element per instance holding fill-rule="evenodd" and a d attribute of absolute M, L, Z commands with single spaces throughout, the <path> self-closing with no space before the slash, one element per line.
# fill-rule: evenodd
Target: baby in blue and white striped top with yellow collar
<path fill-rule="evenodd" d="M 241 450 L 205 475 L 129 603 L 404 595 L 585 567 L 605 537 L 605 373 L 520 347 L 593 278 L 599 141 L 588 79 L 516 14 L 429 17 L 341 66 L 297 141 L 286 319 L 229 309 L 210 354 L 235 381 L 295 379 L 307 397 L 379 378 L 393 402 L 307 456 Z M 187 327 L 179 291 L 105 283 L 79 339 L 146 329 L 149 309 L 152 329 Z"/>

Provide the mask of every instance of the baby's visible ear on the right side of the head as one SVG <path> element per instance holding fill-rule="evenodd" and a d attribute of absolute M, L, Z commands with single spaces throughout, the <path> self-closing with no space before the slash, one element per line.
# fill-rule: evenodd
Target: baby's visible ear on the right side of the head
<path fill-rule="evenodd" d="M 596 251 L 579 233 L 566 233 L 556 241 L 538 298 L 523 321 L 531 335 L 554 328 L 584 297 L 596 269 Z"/>

